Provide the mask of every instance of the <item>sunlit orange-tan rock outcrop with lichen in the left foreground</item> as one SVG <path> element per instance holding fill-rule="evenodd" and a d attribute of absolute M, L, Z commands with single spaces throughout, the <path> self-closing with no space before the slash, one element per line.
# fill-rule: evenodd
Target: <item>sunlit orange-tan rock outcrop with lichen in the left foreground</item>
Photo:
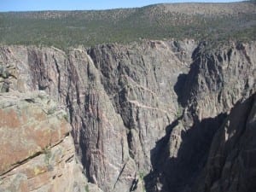
<path fill-rule="evenodd" d="M 0 117 L 0 191 L 95 188 L 76 160 L 67 114 L 44 91 L 1 93 Z"/>

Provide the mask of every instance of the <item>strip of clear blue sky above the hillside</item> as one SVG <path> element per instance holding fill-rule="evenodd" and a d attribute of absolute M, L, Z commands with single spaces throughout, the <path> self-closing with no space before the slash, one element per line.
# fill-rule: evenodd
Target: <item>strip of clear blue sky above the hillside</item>
<path fill-rule="evenodd" d="M 155 3 L 239 2 L 241 0 L 0 0 L 0 12 L 29 10 L 90 10 L 142 7 Z"/>

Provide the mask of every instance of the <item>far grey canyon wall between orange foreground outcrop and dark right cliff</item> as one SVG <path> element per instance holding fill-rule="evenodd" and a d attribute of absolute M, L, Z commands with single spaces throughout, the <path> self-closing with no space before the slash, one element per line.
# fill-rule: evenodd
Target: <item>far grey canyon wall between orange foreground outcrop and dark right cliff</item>
<path fill-rule="evenodd" d="M 44 90 L 66 108 L 84 174 L 104 191 L 189 191 L 227 113 L 255 92 L 255 43 L 210 46 L 3 46 L 12 78 L 0 85 Z"/>

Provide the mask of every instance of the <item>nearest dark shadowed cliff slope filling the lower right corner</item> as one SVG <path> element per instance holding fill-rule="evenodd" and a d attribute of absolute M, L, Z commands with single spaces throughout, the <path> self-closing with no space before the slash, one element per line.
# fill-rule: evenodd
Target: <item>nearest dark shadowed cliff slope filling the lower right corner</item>
<path fill-rule="evenodd" d="M 207 164 L 194 191 L 248 191 L 256 188 L 256 95 L 236 103 L 215 134 Z"/>

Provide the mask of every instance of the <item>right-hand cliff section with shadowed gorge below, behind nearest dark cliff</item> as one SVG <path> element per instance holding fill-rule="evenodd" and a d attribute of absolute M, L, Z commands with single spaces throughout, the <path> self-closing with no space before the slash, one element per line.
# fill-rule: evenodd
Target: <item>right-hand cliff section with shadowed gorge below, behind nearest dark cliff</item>
<path fill-rule="evenodd" d="M 202 43 L 195 49 L 189 73 L 181 74 L 175 86 L 183 112 L 158 144 L 165 149 L 155 156 L 160 160 L 148 175 L 148 191 L 189 191 L 195 183 L 212 137 L 230 109 L 255 92 L 254 46 L 212 49 L 211 44 Z M 154 187 L 149 182 L 152 177 Z"/>

